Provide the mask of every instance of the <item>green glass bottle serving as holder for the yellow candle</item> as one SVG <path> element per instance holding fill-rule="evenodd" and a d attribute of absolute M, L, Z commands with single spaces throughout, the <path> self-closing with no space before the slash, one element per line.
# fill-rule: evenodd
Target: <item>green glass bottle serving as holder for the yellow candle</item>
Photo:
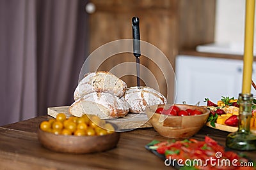
<path fill-rule="evenodd" d="M 230 133 L 226 146 L 234 150 L 256 150 L 256 136 L 250 132 L 252 94 L 239 94 L 238 130 Z"/>

